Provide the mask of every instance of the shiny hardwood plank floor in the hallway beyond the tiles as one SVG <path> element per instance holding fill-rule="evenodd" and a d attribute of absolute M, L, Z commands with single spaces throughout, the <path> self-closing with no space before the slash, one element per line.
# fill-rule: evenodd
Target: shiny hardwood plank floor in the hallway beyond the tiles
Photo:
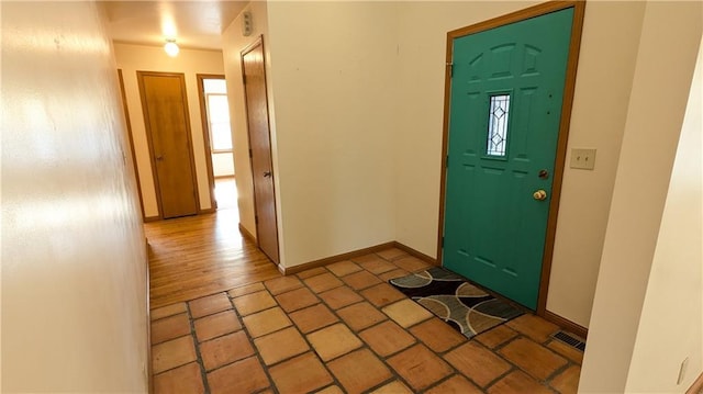
<path fill-rule="evenodd" d="M 146 223 L 144 228 L 152 308 L 281 277 L 239 234 L 236 209 Z"/>

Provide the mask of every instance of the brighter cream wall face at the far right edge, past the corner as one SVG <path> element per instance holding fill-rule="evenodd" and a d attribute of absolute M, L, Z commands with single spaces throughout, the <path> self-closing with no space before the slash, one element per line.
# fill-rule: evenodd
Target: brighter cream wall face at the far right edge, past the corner
<path fill-rule="evenodd" d="M 683 392 L 703 371 L 703 52 L 671 172 L 627 392 Z M 662 335 L 663 333 L 665 335 Z M 679 365 L 689 358 L 677 387 Z M 651 373 L 659 371 L 659 373 Z"/>

